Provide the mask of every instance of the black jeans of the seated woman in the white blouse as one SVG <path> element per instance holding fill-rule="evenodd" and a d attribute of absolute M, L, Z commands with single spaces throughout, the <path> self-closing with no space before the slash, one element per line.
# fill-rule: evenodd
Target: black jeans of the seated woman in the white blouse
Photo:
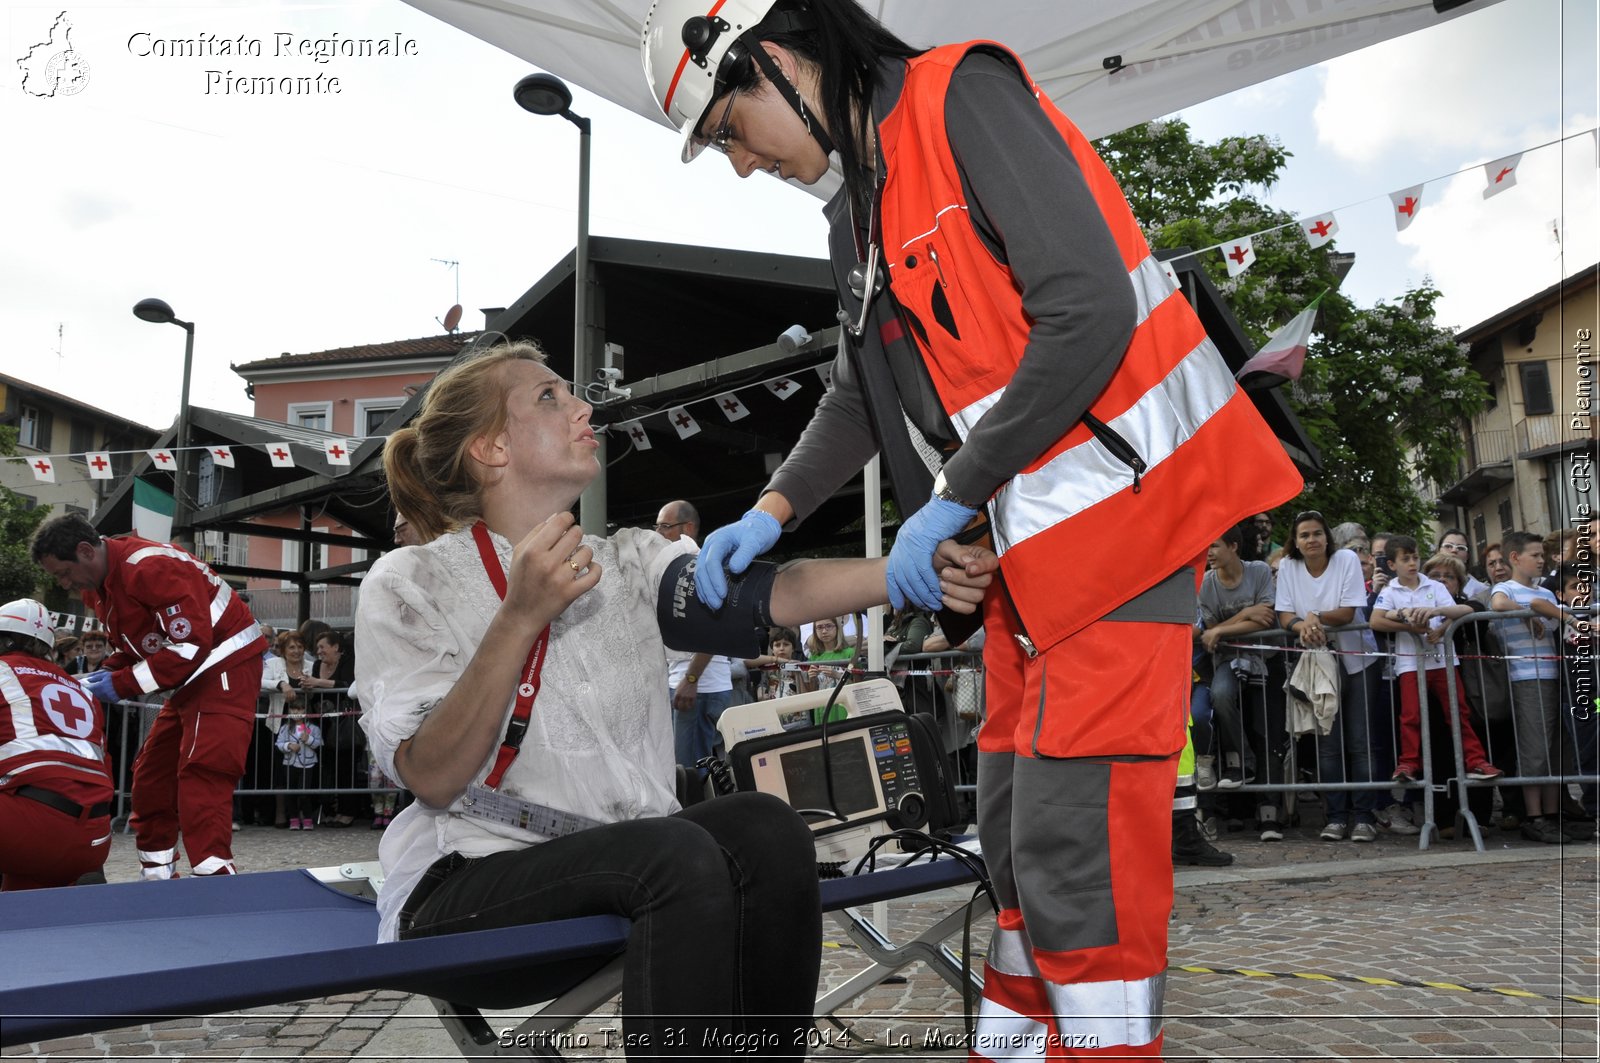
<path fill-rule="evenodd" d="M 413 889 L 400 937 L 605 914 L 634 921 L 622 975 L 629 1055 L 805 1057 L 822 964 L 816 847 L 768 794 L 480 860 L 446 856 Z"/>

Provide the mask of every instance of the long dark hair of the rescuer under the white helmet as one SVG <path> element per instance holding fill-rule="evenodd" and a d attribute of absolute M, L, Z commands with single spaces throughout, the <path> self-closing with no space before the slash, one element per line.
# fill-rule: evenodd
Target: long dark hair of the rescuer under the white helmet
<path fill-rule="evenodd" d="M 811 13 L 814 18 L 803 18 Z M 784 14 L 774 19 L 774 14 Z M 789 16 L 802 14 L 800 19 Z M 798 22 L 803 29 L 763 29 Z M 818 102 L 822 118 L 838 149 L 840 170 L 856 216 L 864 218 L 872 203 L 877 160 L 869 154 L 867 133 L 872 130 L 872 93 L 882 78 L 883 59 L 910 59 L 922 54 L 891 34 L 882 22 L 861 10 L 856 0 L 778 0 L 766 19 L 755 27 L 757 40 L 770 40 L 818 67 Z M 762 82 L 760 67 L 741 50 L 720 72 L 720 90 L 755 90 Z"/>

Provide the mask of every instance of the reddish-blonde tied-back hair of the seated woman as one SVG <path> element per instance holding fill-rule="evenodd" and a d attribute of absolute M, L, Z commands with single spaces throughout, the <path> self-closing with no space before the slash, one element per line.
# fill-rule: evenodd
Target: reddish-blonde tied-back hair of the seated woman
<path fill-rule="evenodd" d="M 544 363 L 531 341 L 490 347 L 434 378 L 422 408 L 384 445 L 389 499 L 422 541 L 477 520 L 483 483 L 467 453 L 474 440 L 506 429 L 506 367 Z"/>

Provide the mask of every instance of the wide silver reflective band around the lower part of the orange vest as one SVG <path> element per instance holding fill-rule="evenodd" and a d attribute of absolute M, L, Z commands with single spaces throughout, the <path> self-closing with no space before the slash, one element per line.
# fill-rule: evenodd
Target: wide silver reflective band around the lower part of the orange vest
<path fill-rule="evenodd" d="M 1203 339 L 1162 383 L 1109 427 L 1144 459 L 1144 475 L 1171 458 L 1234 395 L 1234 376 L 1211 339 Z M 995 552 L 1053 528 L 1133 483 L 1133 469 L 1098 439 L 1066 450 L 1042 469 L 1022 472 L 994 498 Z"/>

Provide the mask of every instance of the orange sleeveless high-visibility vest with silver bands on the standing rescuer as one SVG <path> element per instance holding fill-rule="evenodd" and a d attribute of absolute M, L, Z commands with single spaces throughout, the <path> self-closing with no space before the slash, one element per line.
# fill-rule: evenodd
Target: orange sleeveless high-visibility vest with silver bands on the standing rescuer
<path fill-rule="evenodd" d="M 971 224 L 944 128 L 950 75 L 973 48 L 1005 51 L 1022 66 L 990 42 L 926 51 L 907 62 L 904 91 L 878 126 L 890 288 L 914 319 L 934 389 L 963 440 L 1005 394 L 1032 328 L 1021 283 Z M 1293 498 L 1301 477 L 1150 255 L 1106 163 L 1022 78 L 1088 181 L 1139 317 L 1090 415 L 989 499 L 1006 586 L 1043 652 L 1195 564 L 1229 525 Z M 1090 546 L 1114 551 L 1086 556 Z"/>

